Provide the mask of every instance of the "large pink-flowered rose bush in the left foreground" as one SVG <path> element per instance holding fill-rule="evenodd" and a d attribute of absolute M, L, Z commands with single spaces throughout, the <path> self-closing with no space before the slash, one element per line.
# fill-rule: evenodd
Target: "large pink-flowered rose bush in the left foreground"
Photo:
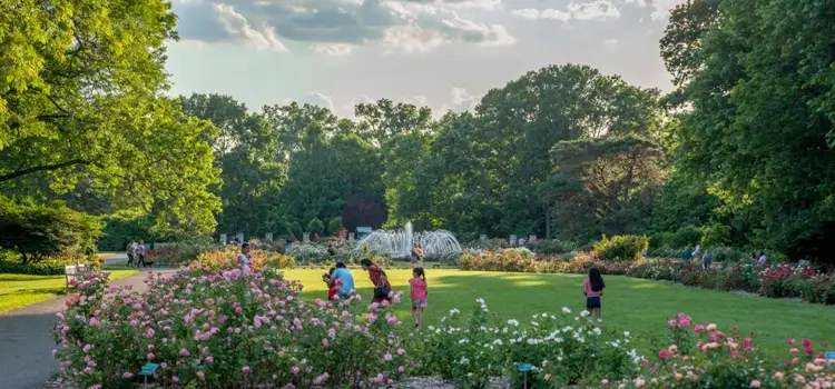
<path fill-rule="evenodd" d="M 81 282 L 55 328 L 60 375 L 84 388 L 130 385 L 147 362 L 158 385 L 187 388 L 382 387 L 411 367 L 389 307 L 304 303 L 277 272 L 193 268 L 141 295 L 105 283 Z"/>

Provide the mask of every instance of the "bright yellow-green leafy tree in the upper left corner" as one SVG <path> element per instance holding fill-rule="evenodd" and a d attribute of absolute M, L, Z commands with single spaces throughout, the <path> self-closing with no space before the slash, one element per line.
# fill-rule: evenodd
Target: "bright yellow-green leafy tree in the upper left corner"
<path fill-rule="evenodd" d="M 160 228 L 210 231 L 217 176 L 204 139 L 215 129 L 161 97 L 165 43 L 177 38 L 170 3 L 3 9 L 0 183 L 61 196 L 81 182 L 117 209 L 155 211 Z"/>

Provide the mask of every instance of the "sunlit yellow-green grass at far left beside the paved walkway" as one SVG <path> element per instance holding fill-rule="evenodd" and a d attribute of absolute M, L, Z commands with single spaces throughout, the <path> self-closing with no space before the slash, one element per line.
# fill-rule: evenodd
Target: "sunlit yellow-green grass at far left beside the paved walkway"
<path fill-rule="evenodd" d="M 111 280 L 128 277 L 136 270 L 117 270 Z M 0 275 L 0 312 L 26 307 L 65 293 L 63 276 Z"/>

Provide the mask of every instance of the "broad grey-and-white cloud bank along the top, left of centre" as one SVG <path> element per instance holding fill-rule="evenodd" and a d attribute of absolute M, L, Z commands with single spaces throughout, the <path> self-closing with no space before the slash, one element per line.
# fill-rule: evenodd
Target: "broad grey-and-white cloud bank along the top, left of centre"
<path fill-rule="evenodd" d="M 218 2 L 224 1 L 224 2 Z M 178 31 L 185 40 L 245 39 L 257 48 L 286 51 L 282 41 L 311 44 L 320 53 L 345 56 L 354 46 L 428 52 L 451 43 L 512 44 L 502 24 L 463 17 L 456 10 L 497 8 L 500 0 L 179 0 Z M 478 12 L 475 12 L 478 13 Z"/>

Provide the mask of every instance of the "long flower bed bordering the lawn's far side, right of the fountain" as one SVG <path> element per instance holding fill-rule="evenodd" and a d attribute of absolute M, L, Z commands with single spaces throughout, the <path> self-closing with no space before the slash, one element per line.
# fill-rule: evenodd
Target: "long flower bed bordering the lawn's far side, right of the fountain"
<path fill-rule="evenodd" d="M 769 298 L 800 298 L 835 305 L 835 273 L 816 271 L 809 266 L 769 265 L 753 261 L 718 262 L 709 269 L 687 266 L 681 260 L 601 261 L 588 253 L 570 260 L 537 258 L 524 249 L 498 251 L 468 250 L 459 259 L 462 270 L 515 271 L 544 273 L 586 273 L 592 266 L 603 275 L 664 280 L 689 287 L 725 291 L 758 292 Z"/>

